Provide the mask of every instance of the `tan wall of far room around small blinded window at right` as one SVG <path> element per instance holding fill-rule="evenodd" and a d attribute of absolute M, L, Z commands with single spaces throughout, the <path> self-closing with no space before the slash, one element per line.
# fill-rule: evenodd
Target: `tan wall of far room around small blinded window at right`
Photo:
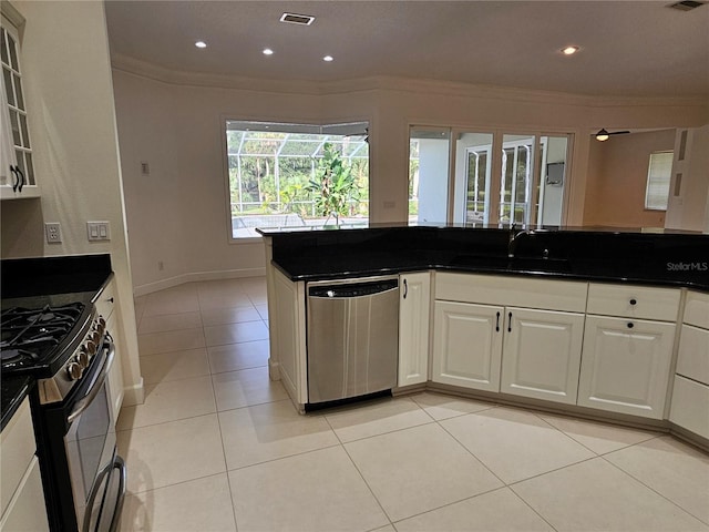
<path fill-rule="evenodd" d="M 674 147 L 675 130 L 592 142 L 584 225 L 665 227 L 665 211 L 645 208 L 645 191 L 650 154 Z"/>

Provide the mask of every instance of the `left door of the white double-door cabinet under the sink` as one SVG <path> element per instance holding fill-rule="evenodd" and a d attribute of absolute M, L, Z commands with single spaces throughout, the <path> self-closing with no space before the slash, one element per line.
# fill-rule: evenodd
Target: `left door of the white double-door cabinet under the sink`
<path fill-rule="evenodd" d="M 500 391 L 504 307 L 435 301 L 434 382 Z"/>

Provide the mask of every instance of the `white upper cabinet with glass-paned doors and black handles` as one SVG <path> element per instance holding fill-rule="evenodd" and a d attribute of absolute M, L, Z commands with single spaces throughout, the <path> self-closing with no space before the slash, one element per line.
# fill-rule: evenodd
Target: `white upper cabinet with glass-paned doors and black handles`
<path fill-rule="evenodd" d="M 16 25 L 4 14 L 0 37 L 0 198 L 37 197 L 39 188 L 22 88 L 20 41 Z"/>

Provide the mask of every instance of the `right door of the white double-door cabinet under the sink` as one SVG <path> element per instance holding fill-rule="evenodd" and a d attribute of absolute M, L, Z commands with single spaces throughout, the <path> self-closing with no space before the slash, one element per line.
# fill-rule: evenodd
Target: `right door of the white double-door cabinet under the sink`
<path fill-rule="evenodd" d="M 500 391 L 576 405 L 584 315 L 505 308 Z"/>

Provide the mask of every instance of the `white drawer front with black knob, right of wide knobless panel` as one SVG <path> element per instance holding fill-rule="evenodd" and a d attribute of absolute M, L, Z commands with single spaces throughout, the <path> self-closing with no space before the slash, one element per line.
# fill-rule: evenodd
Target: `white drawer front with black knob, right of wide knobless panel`
<path fill-rule="evenodd" d="M 676 321 L 680 290 L 646 286 L 588 285 L 587 314 Z"/>

